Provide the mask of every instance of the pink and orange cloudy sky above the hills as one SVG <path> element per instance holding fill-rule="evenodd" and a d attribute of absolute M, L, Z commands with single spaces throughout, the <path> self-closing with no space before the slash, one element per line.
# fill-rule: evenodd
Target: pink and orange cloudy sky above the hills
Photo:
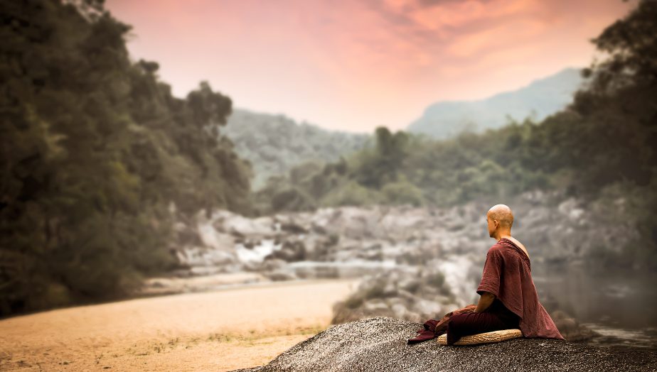
<path fill-rule="evenodd" d="M 107 0 L 132 58 L 184 97 L 323 128 L 405 128 L 430 104 L 525 87 L 597 55 L 630 0 Z"/>

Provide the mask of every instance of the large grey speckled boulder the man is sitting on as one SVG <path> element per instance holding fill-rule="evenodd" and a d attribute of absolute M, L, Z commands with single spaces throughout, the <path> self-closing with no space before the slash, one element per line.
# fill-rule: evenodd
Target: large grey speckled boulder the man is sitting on
<path fill-rule="evenodd" d="M 375 317 L 339 324 L 292 346 L 266 366 L 240 371 L 655 371 L 657 356 L 554 339 L 476 346 L 408 345 L 421 324 Z"/>

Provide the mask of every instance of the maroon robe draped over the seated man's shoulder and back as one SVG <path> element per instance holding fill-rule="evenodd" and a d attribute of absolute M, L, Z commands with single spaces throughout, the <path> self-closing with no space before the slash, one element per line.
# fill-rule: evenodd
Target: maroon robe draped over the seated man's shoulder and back
<path fill-rule="evenodd" d="M 479 295 L 490 292 L 520 317 L 523 337 L 564 339 L 538 300 L 529 257 L 513 241 L 502 238 L 486 254 Z"/>

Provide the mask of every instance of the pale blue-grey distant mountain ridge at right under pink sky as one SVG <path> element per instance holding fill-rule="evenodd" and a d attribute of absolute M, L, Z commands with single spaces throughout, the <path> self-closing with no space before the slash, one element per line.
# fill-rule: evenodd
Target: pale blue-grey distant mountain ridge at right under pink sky
<path fill-rule="evenodd" d="M 583 81 L 579 69 L 567 68 L 527 87 L 487 99 L 437 102 L 424 110 L 407 131 L 449 138 L 463 131 L 499 128 L 508 124 L 507 115 L 518 121 L 527 116 L 540 121 L 572 102 L 572 94 Z"/>

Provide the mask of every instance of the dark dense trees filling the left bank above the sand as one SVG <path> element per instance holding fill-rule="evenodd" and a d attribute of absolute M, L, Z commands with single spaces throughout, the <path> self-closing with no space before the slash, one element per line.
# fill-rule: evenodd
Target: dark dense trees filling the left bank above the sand
<path fill-rule="evenodd" d="M 0 16 L 0 315 L 122 297 L 176 265 L 179 216 L 250 213 L 250 165 L 218 133 L 230 98 L 174 98 L 100 3 Z"/>

